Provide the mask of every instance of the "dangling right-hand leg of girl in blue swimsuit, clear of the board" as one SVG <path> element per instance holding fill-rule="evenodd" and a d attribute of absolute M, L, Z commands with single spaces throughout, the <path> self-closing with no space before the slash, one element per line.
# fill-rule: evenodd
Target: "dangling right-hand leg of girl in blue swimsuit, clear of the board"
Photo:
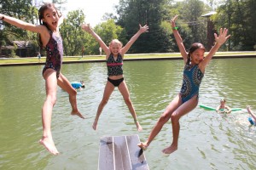
<path fill-rule="evenodd" d="M 189 99 L 189 101 L 183 103 L 183 105 L 179 106 L 177 110 L 172 113 L 172 116 L 171 116 L 172 135 L 173 135 L 172 144 L 171 146 L 162 150 L 163 153 L 171 154 L 172 152 L 177 150 L 177 141 L 178 141 L 178 135 L 179 135 L 179 129 L 180 129 L 179 119 L 185 114 L 189 113 L 189 111 L 194 110 L 197 104 L 198 104 L 198 97 L 195 95 L 192 99 Z"/>

